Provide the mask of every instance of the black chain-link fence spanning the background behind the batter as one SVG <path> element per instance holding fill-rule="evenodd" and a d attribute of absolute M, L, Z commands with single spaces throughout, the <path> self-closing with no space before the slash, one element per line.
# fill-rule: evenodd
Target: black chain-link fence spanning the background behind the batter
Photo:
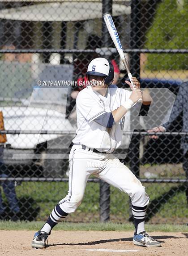
<path fill-rule="evenodd" d="M 131 112 L 115 153 L 150 195 L 147 221 L 188 222 L 188 0 L 0 2 L 1 219 L 45 220 L 67 193 L 88 63 L 111 59 L 114 84 L 129 90 L 107 12 L 156 103 Z M 165 132 L 148 133 L 164 123 Z M 67 220 L 132 221 L 128 195 L 91 176 Z"/>

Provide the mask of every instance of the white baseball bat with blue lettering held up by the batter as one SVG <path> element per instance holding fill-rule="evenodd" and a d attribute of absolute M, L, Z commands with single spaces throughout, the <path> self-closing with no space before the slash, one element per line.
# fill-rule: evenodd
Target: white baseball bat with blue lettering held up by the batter
<path fill-rule="evenodd" d="M 135 88 L 135 84 L 132 82 L 131 78 L 132 78 L 132 74 L 129 70 L 129 67 L 128 67 L 128 63 L 127 63 L 127 60 L 124 56 L 124 51 L 123 51 L 123 48 L 122 48 L 122 45 L 121 45 L 121 41 L 120 41 L 120 37 L 118 35 L 118 32 L 116 30 L 116 27 L 115 27 L 115 24 L 113 22 L 113 19 L 111 17 L 111 14 L 110 13 L 105 13 L 103 15 L 104 17 L 104 21 L 105 21 L 105 24 L 107 26 L 107 29 L 108 29 L 108 32 L 111 36 L 111 39 L 113 40 L 114 42 L 114 45 L 115 45 L 115 48 L 117 49 L 119 55 L 120 55 L 120 58 L 124 64 L 124 67 L 128 73 L 128 78 L 132 84 L 132 87 Z M 142 99 L 139 99 L 138 101 L 142 101 Z"/>

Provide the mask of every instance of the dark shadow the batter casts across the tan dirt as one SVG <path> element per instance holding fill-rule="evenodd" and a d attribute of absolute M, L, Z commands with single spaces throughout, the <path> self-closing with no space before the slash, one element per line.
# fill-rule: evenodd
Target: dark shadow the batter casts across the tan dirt
<path fill-rule="evenodd" d="M 165 243 L 164 241 L 161 241 L 161 239 L 169 239 L 169 238 L 184 238 L 182 237 L 174 237 L 174 236 L 153 236 L 155 240 L 157 240 L 160 243 Z M 160 240 L 158 240 L 160 239 Z M 101 243 L 112 243 L 112 242 L 128 242 L 132 241 L 131 238 L 115 238 L 115 239 L 106 239 L 106 240 L 98 240 L 98 241 L 93 241 L 93 242 L 87 242 L 87 243 L 57 243 L 57 244 L 48 244 L 47 247 L 51 246 L 58 246 L 58 245 L 68 245 L 68 246 L 87 246 L 87 245 L 96 245 L 96 244 L 101 244 Z"/>

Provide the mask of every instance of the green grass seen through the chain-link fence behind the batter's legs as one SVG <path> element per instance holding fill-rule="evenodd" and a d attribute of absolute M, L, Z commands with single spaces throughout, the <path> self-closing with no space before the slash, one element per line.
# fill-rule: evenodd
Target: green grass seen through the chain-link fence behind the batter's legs
<path fill-rule="evenodd" d="M 150 195 L 150 202 L 167 193 L 172 187 L 179 184 L 143 184 L 146 192 Z M 32 207 L 40 207 L 35 220 L 46 220 L 53 207 L 59 202 L 68 191 L 68 183 L 64 182 L 22 182 L 16 187 L 17 197 L 26 198 L 26 202 L 32 198 Z M 4 195 L 3 195 L 4 197 Z M 5 198 L 4 198 L 5 200 Z M 167 202 L 158 205 L 154 223 L 185 223 L 188 217 L 187 202 L 184 191 L 177 191 Z M 118 189 L 111 187 L 111 220 L 125 222 L 129 217 L 128 195 Z M 30 210 L 25 207 L 26 213 Z M 77 211 L 68 216 L 68 221 L 90 222 L 99 221 L 99 184 L 88 183 L 85 189 L 85 196 Z M 152 219 L 151 219 L 152 220 Z M 163 220 L 163 221 L 161 221 Z M 152 221 L 151 221 L 152 222 Z"/>

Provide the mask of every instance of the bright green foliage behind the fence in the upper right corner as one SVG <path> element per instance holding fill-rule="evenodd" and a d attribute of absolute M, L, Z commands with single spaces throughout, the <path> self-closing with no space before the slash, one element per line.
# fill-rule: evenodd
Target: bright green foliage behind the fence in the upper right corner
<path fill-rule="evenodd" d="M 160 2 L 146 38 L 148 49 L 188 49 L 188 0 Z M 188 69 L 188 54 L 148 54 L 146 69 Z"/>

